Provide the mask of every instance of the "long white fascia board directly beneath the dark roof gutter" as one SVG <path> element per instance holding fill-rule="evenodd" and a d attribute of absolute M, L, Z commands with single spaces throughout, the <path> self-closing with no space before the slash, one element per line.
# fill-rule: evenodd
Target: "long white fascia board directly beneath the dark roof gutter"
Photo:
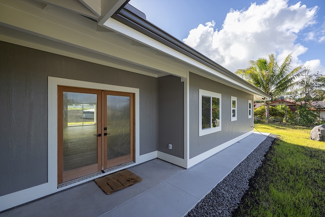
<path fill-rule="evenodd" d="M 118 32 L 120 34 L 123 34 L 129 38 L 132 38 L 133 40 L 136 40 L 140 43 L 144 43 L 147 46 L 159 50 L 163 53 L 166 53 L 167 55 L 174 57 L 176 59 L 181 60 L 183 63 L 186 63 L 188 65 L 190 65 L 191 67 L 195 67 L 198 68 L 200 70 L 203 70 L 205 72 L 208 72 L 209 74 L 211 74 L 212 76 L 218 77 L 220 79 L 223 80 L 228 80 L 229 82 L 233 83 L 236 86 L 240 86 L 243 89 L 252 92 L 253 94 L 257 94 L 257 95 L 261 95 L 260 93 L 256 92 L 254 89 L 248 87 L 248 86 L 243 86 L 242 83 L 231 79 L 230 77 L 223 75 L 222 73 L 218 72 L 217 70 L 214 70 L 202 63 L 200 63 L 199 61 L 196 61 L 188 56 L 186 56 L 185 54 L 182 54 L 140 32 L 138 32 L 137 30 L 123 24 L 120 23 L 119 21 L 113 19 L 113 18 L 109 18 L 105 23 L 104 23 L 104 27 L 108 27 L 110 29 L 112 29 L 115 32 Z"/>

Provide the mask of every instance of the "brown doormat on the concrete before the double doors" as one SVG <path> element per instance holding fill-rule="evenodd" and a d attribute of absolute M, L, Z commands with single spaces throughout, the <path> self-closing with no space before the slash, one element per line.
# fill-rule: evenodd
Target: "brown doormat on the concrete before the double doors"
<path fill-rule="evenodd" d="M 96 184 L 108 195 L 140 181 L 142 181 L 141 177 L 128 170 L 121 170 L 95 179 Z"/>

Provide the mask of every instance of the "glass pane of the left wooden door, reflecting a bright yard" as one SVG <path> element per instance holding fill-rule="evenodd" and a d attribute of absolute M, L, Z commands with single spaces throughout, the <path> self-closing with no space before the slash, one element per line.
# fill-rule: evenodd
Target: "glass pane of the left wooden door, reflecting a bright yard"
<path fill-rule="evenodd" d="M 63 171 L 97 163 L 97 95 L 63 92 Z"/>

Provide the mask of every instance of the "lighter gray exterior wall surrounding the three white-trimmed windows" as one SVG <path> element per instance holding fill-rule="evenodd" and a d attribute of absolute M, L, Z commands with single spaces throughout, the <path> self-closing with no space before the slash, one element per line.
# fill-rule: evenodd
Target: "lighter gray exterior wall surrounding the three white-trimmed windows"
<path fill-rule="evenodd" d="M 199 137 L 199 89 L 221 94 L 221 131 Z M 231 121 L 231 97 L 237 97 L 237 121 Z M 198 156 L 224 142 L 252 130 L 253 118 L 248 118 L 246 92 L 212 81 L 197 74 L 189 76 L 189 158 Z"/>

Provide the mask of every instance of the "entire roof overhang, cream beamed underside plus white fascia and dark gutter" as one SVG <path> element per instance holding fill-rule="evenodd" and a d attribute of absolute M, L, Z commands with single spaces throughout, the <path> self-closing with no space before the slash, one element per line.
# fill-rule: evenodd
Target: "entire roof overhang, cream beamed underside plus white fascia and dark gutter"
<path fill-rule="evenodd" d="M 0 40 L 153 77 L 197 73 L 249 92 L 256 101 L 270 100 L 262 90 L 132 12 L 127 2 L 0 0 Z"/>

